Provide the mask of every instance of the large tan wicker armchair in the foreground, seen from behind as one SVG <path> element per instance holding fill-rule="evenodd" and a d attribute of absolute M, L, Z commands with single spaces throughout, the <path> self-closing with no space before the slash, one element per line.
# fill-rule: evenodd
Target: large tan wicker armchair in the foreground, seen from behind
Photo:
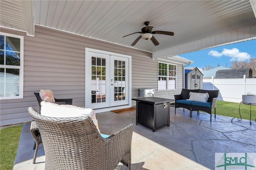
<path fill-rule="evenodd" d="M 119 162 L 131 169 L 133 124 L 103 138 L 90 117 L 45 117 L 32 107 L 28 112 L 41 133 L 46 170 L 111 170 Z"/>

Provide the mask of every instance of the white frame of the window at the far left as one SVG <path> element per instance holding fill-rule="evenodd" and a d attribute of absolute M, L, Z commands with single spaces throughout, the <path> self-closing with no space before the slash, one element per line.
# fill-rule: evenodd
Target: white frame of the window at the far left
<path fill-rule="evenodd" d="M 24 81 L 24 37 L 18 36 L 14 34 L 8 34 L 4 32 L 0 32 L 1 36 L 8 36 L 13 38 L 19 38 L 20 39 L 20 65 L 0 65 L 1 68 L 8 68 L 8 69 L 20 69 L 20 75 L 19 75 L 19 95 L 18 96 L 7 96 L 7 97 L 0 97 L 0 100 L 5 99 L 23 99 L 23 81 Z M 1 50 L 2 51 L 2 50 Z M 5 51 L 5 47 L 4 47 Z"/>

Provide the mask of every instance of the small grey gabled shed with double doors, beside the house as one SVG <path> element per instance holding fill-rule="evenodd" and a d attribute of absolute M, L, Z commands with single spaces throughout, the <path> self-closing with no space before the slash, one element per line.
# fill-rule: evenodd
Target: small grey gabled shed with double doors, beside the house
<path fill-rule="evenodd" d="M 203 89 L 203 74 L 197 67 L 185 69 L 185 89 Z"/>

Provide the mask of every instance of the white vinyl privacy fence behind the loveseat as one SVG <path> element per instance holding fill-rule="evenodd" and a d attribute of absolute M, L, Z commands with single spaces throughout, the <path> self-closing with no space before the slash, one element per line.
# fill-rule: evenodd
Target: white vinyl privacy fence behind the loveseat
<path fill-rule="evenodd" d="M 204 90 L 219 90 L 218 100 L 240 103 L 242 95 L 256 94 L 256 78 L 246 79 L 203 79 Z"/>

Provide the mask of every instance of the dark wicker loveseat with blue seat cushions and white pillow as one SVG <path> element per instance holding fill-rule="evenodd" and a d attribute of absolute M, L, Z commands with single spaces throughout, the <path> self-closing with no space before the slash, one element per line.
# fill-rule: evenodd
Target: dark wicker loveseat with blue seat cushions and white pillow
<path fill-rule="evenodd" d="M 216 118 L 216 102 L 218 99 L 219 90 L 202 90 L 202 89 L 182 89 L 180 95 L 174 95 L 175 98 L 175 114 L 176 108 L 183 107 L 190 110 L 190 117 L 192 117 L 192 111 L 204 111 L 211 115 L 210 121 L 212 121 L 212 109 L 214 108 L 214 117 Z"/>

